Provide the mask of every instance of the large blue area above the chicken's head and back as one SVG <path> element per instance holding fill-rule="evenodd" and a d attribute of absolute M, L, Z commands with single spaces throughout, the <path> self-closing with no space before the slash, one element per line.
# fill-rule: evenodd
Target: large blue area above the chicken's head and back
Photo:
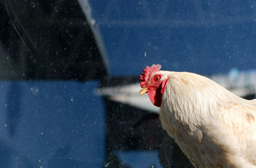
<path fill-rule="evenodd" d="M 255 1 L 90 1 L 113 75 L 255 68 Z M 145 57 L 145 52 L 147 57 Z"/>

